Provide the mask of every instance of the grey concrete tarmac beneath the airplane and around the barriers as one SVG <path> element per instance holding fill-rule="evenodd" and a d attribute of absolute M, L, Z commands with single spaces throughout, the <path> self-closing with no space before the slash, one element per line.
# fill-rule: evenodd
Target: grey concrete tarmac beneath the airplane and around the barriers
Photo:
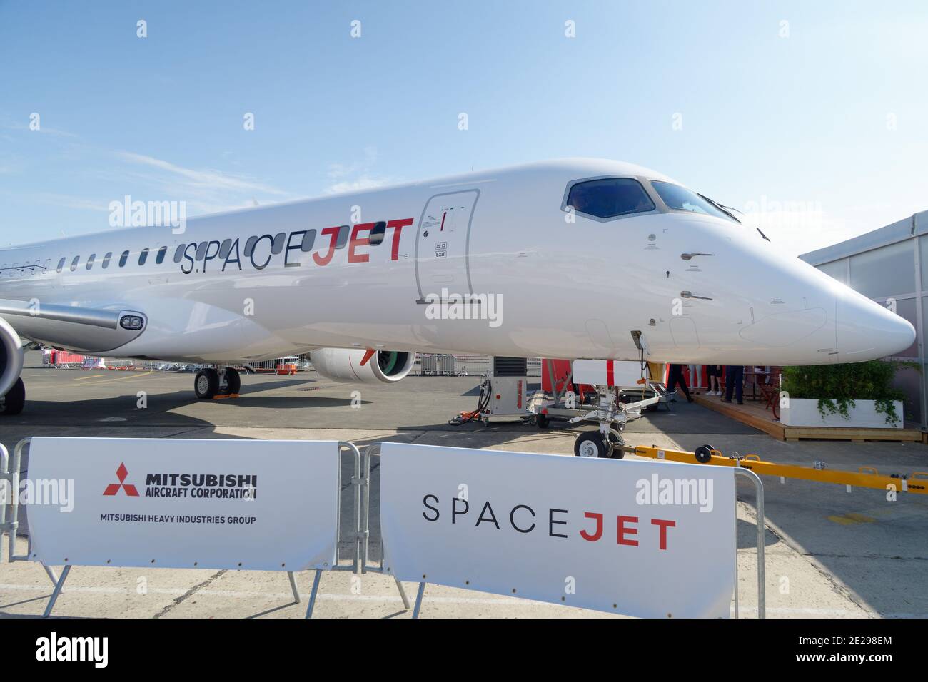
<path fill-rule="evenodd" d="M 27 405 L 0 418 L 0 443 L 12 452 L 37 435 L 382 441 L 445 444 L 573 455 L 576 431 L 526 423 L 452 426 L 477 402 L 477 377 L 409 377 L 393 385 L 337 384 L 301 373 L 242 377 L 236 399 L 197 401 L 189 372 L 56 370 L 28 354 Z M 360 392 L 360 406 L 356 395 Z M 563 427 L 563 428 L 562 428 Z M 646 413 L 625 430 L 626 444 L 692 450 L 712 444 L 725 454 L 831 469 L 881 473 L 928 470 L 928 446 L 910 443 L 783 443 L 699 405 L 677 403 Z M 629 456 L 630 457 L 630 456 Z M 345 475 L 349 463 L 342 462 Z M 28 461 L 27 461 L 28 466 Z M 372 471 L 370 557 L 380 560 L 379 471 Z M 767 617 L 847 618 L 928 615 L 928 495 L 765 478 Z M 343 518 L 349 513 L 343 495 Z M 738 564 L 742 617 L 756 616 L 754 490 L 738 490 Z M 28 518 L 20 514 L 22 530 Z M 345 523 L 342 523 L 345 527 Z M 19 537 L 18 551 L 27 539 Z M 348 544 L 340 546 L 347 560 Z M 4 554 L 5 557 L 5 554 Z M 295 603 L 284 573 L 213 570 L 72 569 L 60 617 L 303 617 L 311 573 L 298 573 Z M 410 598 L 416 585 L 406 584 Z M 0 617 L 37 617 L 51 584 L 41 565 L 0 563 Z M 407 618 L 392 578 L 324 573 L 315 617 Z M 615 617 L 440 585 L 428 585 L 421 617 Z"/>

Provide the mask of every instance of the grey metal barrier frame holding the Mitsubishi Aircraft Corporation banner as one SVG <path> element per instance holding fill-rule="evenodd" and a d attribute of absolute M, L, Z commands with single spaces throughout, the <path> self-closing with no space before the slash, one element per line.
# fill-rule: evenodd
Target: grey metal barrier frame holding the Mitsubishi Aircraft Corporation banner
<path fill-rule="evenodd" d="M 18 513 L 19 513 L 19 477 L 21 474 L 21 464 L 22 464 L 22 451 L 25 449 L 26 445 L 32 442 L 32 437 L 24 438 L 16 444 L 16 447 L 13 450 L 13 460 L 12 466 L 10 466 L 9 455 L 6 451 L 6 446 L 0 444 L 0 481 L 6 480 L 9 482 L 9 492 L 10 500 L 9 506 L 11 508 L 12 520 L 6 522 L 6 504 L 0 504 L 0 561 L 3 560 L 2 549 L 3 549 L 3 536 L 4 534 L 9 535 L 9 549 L 8 549 L 8 561 L 29 561 L 30 556 L 32 555 L 32 535 L 29 536 L 28 545 L 26 547 L 26 553 L 24 555 L 17 555 L 16 552 L 16 532 L 19 528 Z M 354 528 L 350 537 L 354 542 L 354 558 L 350 564 L 340 564 L 339 563 L 339 544 L 342 534 L 342 489 L 344 487 L 342 483 L 342 450 L 348 450 L 354 456 L 354 471 L 351 477 L 350 484 L 354 487 Z M 335 516 L 335 563 L 329 567 L 329 569 L 313 569 L 316 573 L 313 576 L 313 587 L 309 594 L 309 603 L 306 607 L 305 618 L 313 617 L 313 610 L 316 607 L 316 597 L 319 592 L 319 581 L 322 578 L 323 570 L 327 571 L 351 571 L 353 573 L 359 573 L 361 569 L 361 488 L 364 485 L 363 479 L 361 478 L 361 453 L 357 449 L 357 446 L 354 443 L 348 441 L 338 441 L 338 491 L 336 496 L 339 501 L 339 508 Z M 368 477 L 369 478 L 369 477 Z M 368 492 L 369 494 L 369 492 Z M 366 523 L 367 525 L 367 523 Z M 365 531 L 364 534 L 367 534 Z M 54 590 L 52 591 L 51 597 L 48 598 L 48 604 L 45 606 L 45 612 L 43 613 L 43 618 L 47 618 L 51 615 L 52 609 L 55 608 L 55 602 L 58 601 L 58 596 L 61 594 L 61 588 L 64 586 L 65 580 L 68 579 L 69 573 L 71 573 L 71 566 L 73 564 L 66 564 L 61 569 L 61 574 L 56 575 L 55 572 L 45 563 L 42 563 L 42 568 L 45 569 L 45 573 L 48 575 L 49 580 L 51 580 L 52 585 L 55 585 Z M 125 568 L 125 567 L 122 567 Z M 139 567 L 141 568 L 141 567 Z M 301 601 L 300 592 L 297 589 L 296 578 L 294 572 L 288 571 L 287 576 L 290 579 L 290 589 L 293 592 L 294 603 L 299 603 Z M 402 593 L 402 587 L 400 588 Z M 403 595 L 404 602 L 406 602 L 406 595 Z"/>

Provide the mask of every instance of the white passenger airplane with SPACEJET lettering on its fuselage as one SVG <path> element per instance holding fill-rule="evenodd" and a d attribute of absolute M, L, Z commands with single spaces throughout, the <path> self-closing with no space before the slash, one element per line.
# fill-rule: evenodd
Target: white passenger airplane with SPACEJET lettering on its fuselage
<path fill-rule="evenodd" d="M 303 353 L 389 383 L 417 352 L 824 365 L 915 329 L 663 174 L 567 159 L 5 249 L 6 415 L 22 339 L 212 364 L 209 399 L 238 392 L 235 365 Z"/>

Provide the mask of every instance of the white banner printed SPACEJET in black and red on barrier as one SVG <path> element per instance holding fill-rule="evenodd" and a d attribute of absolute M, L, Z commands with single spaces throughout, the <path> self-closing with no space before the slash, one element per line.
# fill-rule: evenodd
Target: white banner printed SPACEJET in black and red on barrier
<path fill-rule="evenodd" d="M 400 580 L 642 617 L 728 617 L 734 470 L 384 443 Z"/>

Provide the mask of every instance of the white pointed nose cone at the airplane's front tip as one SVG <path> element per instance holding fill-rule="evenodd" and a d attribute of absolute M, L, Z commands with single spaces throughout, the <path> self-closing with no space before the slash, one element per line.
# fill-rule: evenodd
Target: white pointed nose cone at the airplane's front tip
<path fill-rule="evenodd" d="M 838 302 L 836 317 L 839 362 L 897 355 L 915 342 L 915 328 L 908 320 L 856 292 Z"/>

